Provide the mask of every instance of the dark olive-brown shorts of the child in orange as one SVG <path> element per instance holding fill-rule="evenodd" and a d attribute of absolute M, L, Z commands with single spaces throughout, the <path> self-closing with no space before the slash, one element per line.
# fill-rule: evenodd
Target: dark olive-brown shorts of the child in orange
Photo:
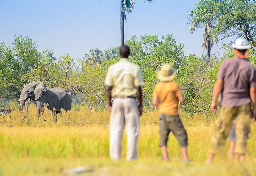
<path fill-rule="evenodd" d="M 187 132 L 179 116 L 170 116 L 167 114 L 159 114 L 160 126 L 160 143 L 159 146 L 167 146 L 169 133 L 172 132 L 179 142 L 180 147 L 188 146 Z"/>

